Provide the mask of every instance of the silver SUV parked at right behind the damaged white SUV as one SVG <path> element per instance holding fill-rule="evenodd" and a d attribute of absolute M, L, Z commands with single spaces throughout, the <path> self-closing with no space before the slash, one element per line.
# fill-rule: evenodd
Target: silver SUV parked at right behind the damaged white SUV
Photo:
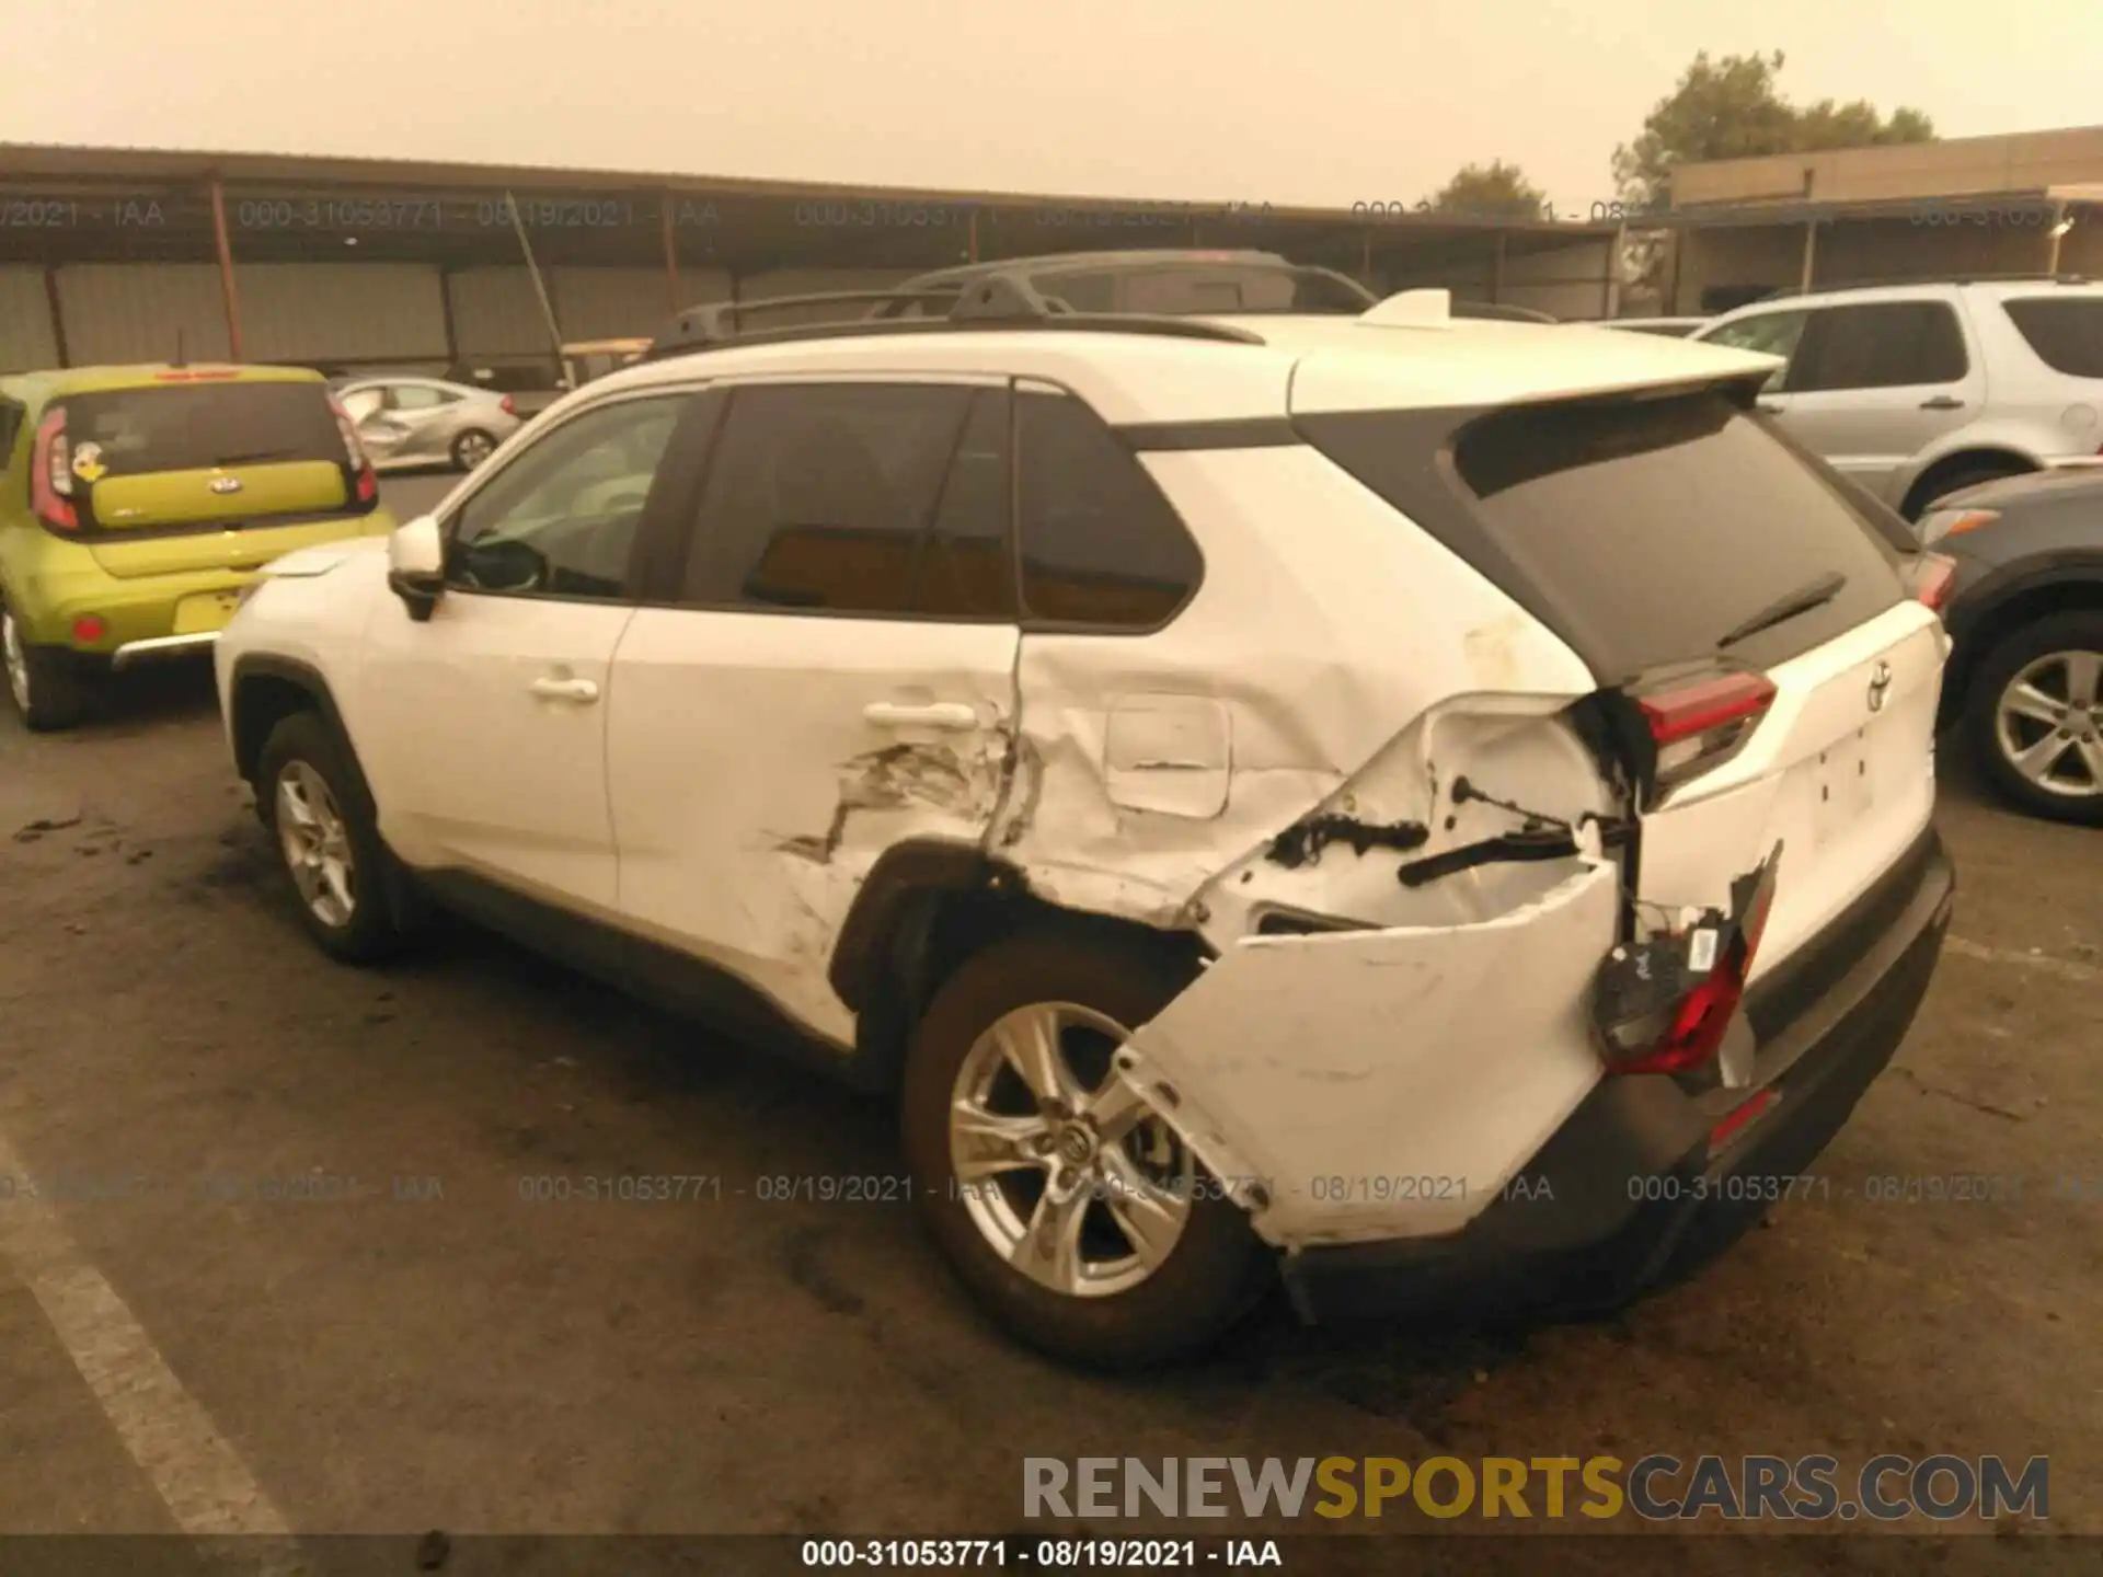
<path fill-rule="evenodd" d="M 1693 339 L 1785 357 L 1760 408 L 1907 519 L 1981 482 L 2103 467 L 2103 286 L 1819 290 Z"/>

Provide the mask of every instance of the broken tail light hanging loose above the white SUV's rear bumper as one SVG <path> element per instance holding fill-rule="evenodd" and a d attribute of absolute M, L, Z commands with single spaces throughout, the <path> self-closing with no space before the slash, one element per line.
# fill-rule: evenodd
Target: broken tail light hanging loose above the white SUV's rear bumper
<path fill-rule="evenodd" d="M 1745 999 L 1752 959 L 1775 906 L 1781 845 L 1731 883 L 1731 915 L 1617 946 L 1592 992 L 1609 1072 L 1691 1072 L 1716 1060 Z"/>

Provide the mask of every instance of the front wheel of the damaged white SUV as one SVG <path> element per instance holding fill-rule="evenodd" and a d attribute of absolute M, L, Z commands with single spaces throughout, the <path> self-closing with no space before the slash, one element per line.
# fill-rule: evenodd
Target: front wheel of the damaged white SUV
<path fill-rule="evenodd" d="M 301 925 L 328 957 L 379 963 L 402 950 L 408 927 L 391 902 L 393 856 L 349 751 L 315 713 L 292 713 L 271 730 L 257 765 L 257 810 Z"/>

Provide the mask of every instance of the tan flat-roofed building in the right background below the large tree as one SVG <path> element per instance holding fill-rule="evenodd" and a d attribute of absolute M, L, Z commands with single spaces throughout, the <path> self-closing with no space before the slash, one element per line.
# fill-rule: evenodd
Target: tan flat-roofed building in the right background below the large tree
<path fill-rule="evenodd" d="M 2103 278 L 2103 126 L 1682 164 L 1663 311 L 1903 280 Z"/>

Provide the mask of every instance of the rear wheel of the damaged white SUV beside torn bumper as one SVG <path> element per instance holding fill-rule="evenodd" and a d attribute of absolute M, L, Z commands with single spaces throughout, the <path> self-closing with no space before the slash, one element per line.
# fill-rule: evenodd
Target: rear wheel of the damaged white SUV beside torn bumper
<path fill-rule="evenodd" d="M 1192 1354 L 1272 1268 L 1241 1207 L 1112 1068 L 1186 980 L 1134 946 L 1026 934 L 936 992 L 906 1058 L 915 1196 L 976 1299 L 1091 1369 Z"/>

